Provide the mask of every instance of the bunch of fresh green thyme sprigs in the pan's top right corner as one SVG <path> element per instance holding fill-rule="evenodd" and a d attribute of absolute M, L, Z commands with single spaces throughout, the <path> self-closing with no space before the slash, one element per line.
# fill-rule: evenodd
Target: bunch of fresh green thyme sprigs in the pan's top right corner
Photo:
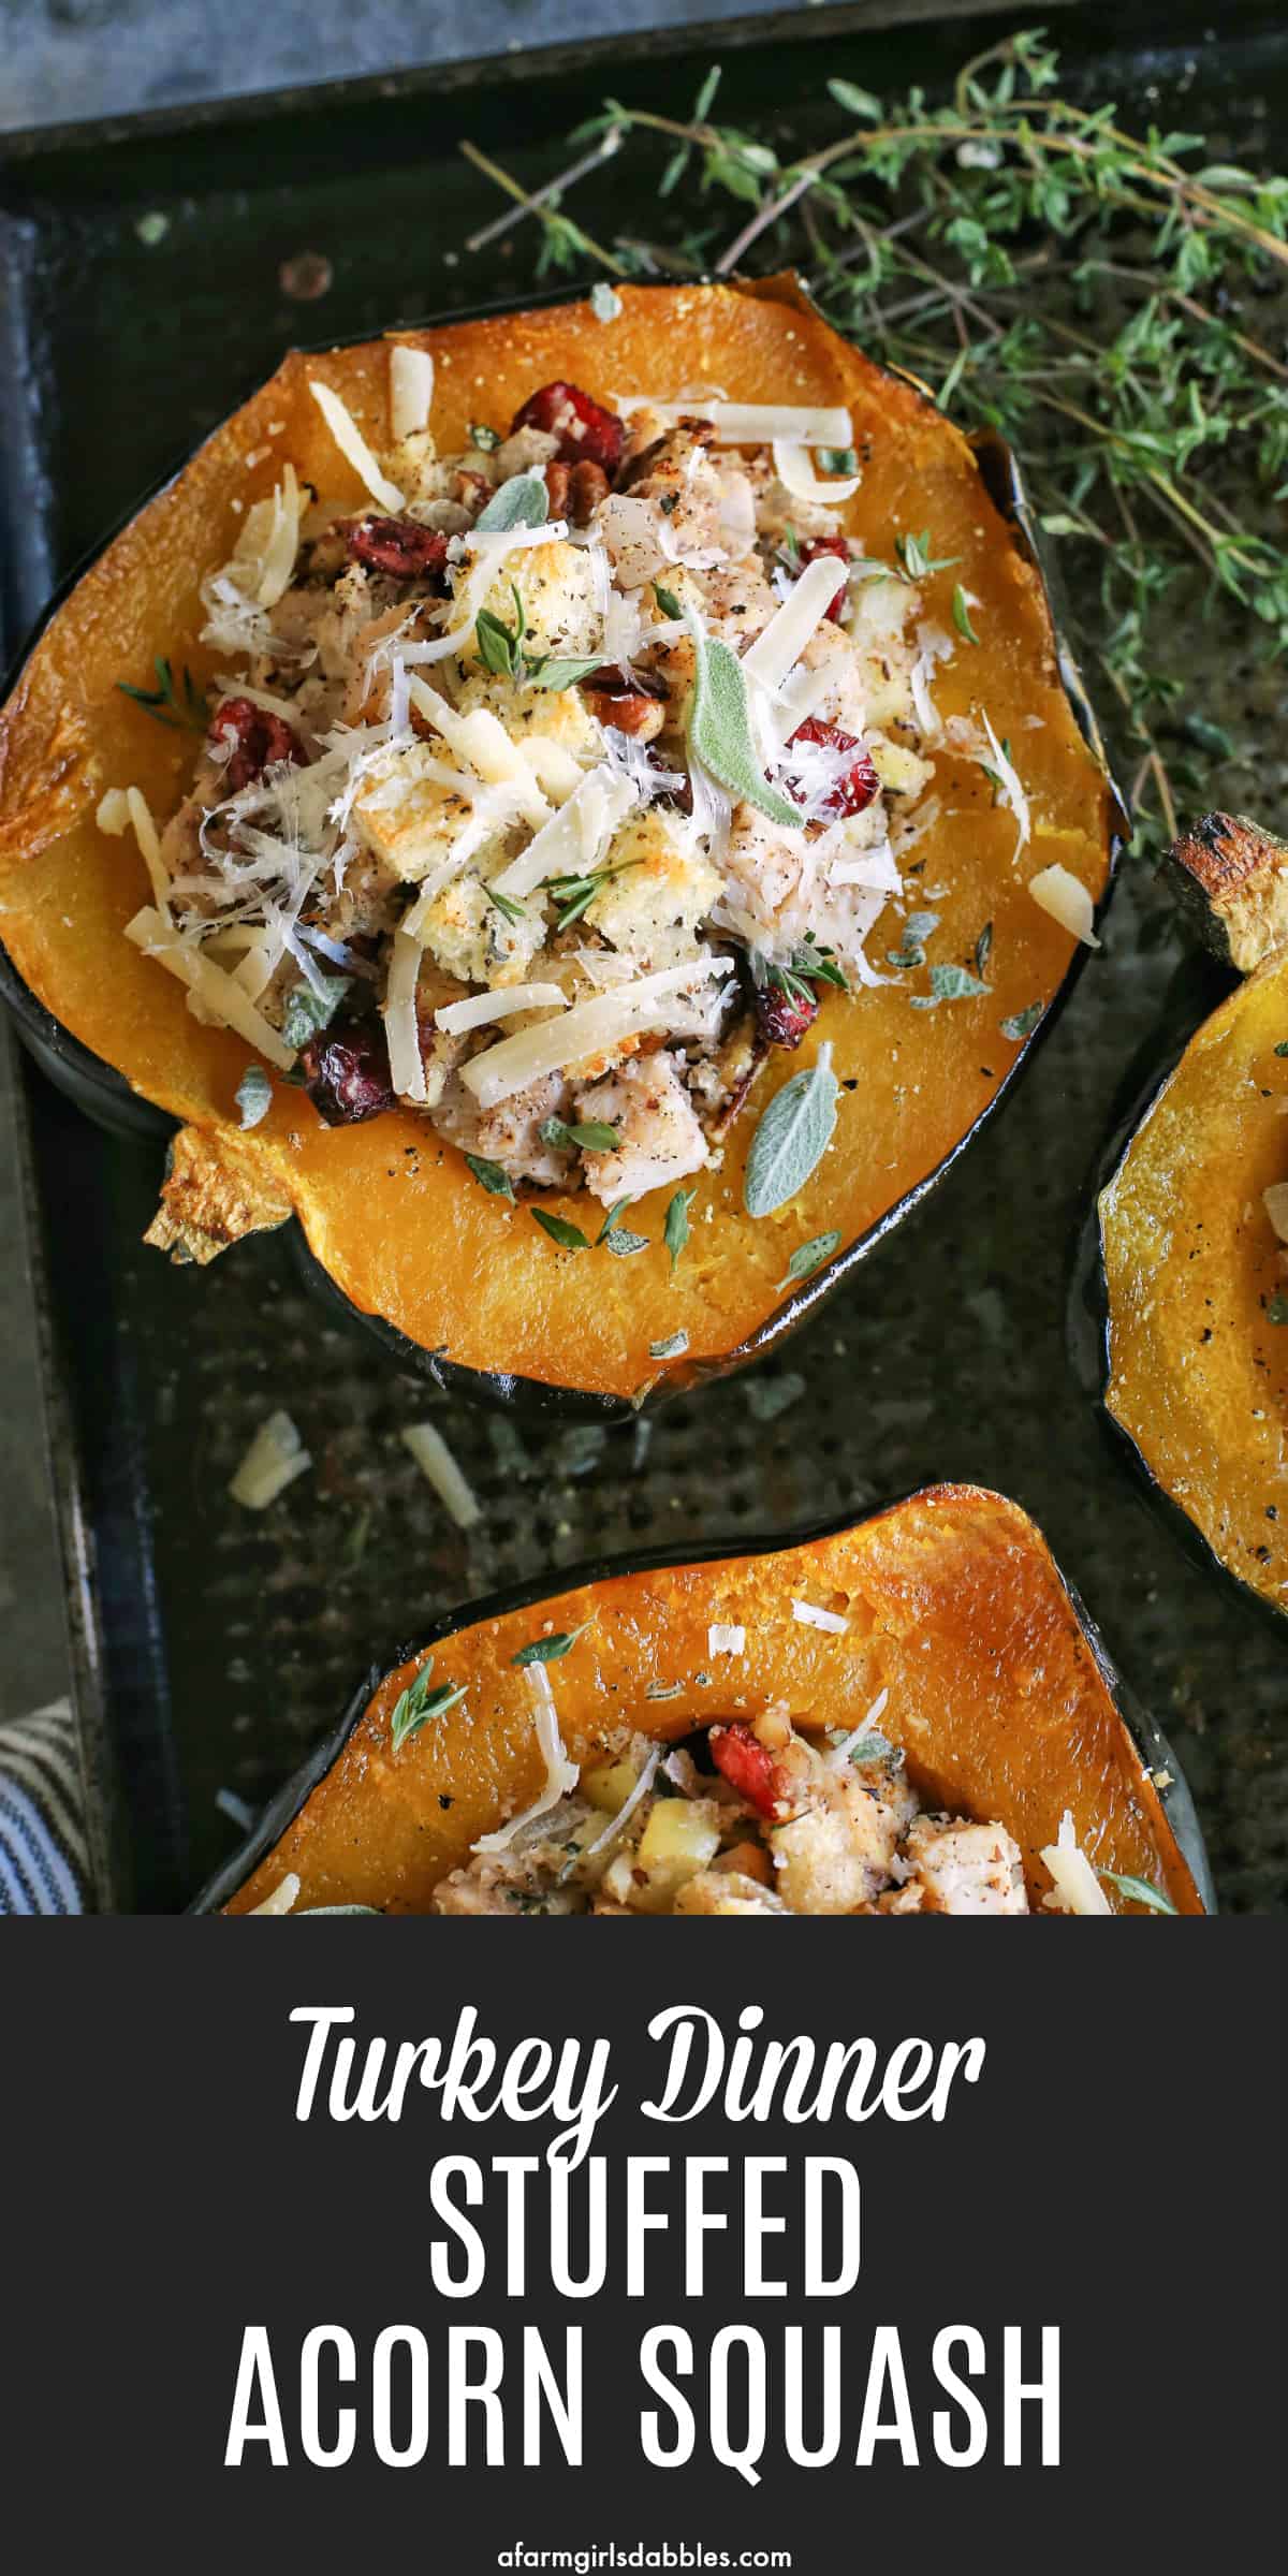
<path fill-rule="evenodd" d="M 492 175 L 541 227 L 541 270 L 793 263 L 840 330 L 963 425 L 1010 438 L 1046 536 L 1072 549 L 1139 842 L 1162 845 L 1177 804 L 1211 801 L 1213 762 L 1252 760 L 1239 737 L 1195 732 L 1188 626 L 1224 598 L 1234 649 L 1257 631 L 1260 654 L 1288 652 L 1288 335 L 1273 301 L 1288 291 L 1288 178 L 1061 95 L 1041 28 L 976 54 L 945 100 L 845 80 L 829 95 L 842 131 L 801 157 L 719 121 L 714 70 L 688 118 L 605 100 L 546 191 Z M 590 147 L 608 139 L 657 152 L 659 193 L 657 237 L 618 234 L 611 252 L 556 206 L 572 180 L 595 188 Z M 711 219 L 721 196 L 742 214 L 732 234 Z"/>

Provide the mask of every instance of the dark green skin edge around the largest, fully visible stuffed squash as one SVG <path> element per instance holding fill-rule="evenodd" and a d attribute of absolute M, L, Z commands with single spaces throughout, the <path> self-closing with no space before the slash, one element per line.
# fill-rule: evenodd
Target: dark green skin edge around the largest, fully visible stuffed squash
<path fill-rule="evenodd" d="M 526 307 L 538 304 L 538 301 L 564 301 L 564 299 L 567 299 L 564 291 L 556 291 L 554 296 L 528 296 Z M 495 312 L 497 307 L 487 307 L 487 309 Z M 469 317 L 453 314 L 453 319 L 469 319 Z M 925 392 L 925 386 L 922 386 L 922 392 Z M 1095 711 L 1092 711 L 1092 703 L 1087 698 L 1087 690 L 1084 690 L 1084 683 L 1082 683 L 1082 672 L 1079 672 L 1074 657 L 1072 657 L 1072 652 L 1064 644 L 1061 621 L 1059 621 L 1054 600 L 1051 600 L 1051 580 L 1048 580 L 1041 549 L 1038 549 L 1038 538 L 1036 538 L 1036 528 L 1033 528 L 1033 515 L 1030 515 L 1028 497 L 1025 497 L 1023 479 L 1020 479 L 1020 466 L 1018 466 L 1010 446 L 1005 443 L 1005 438 L 999 438 L 994 430 L 979 430 L 979 433 L 974 433 L 971 435 L 971 448 L 974 448 L 974 456 L 979 461 L 979 474 L 981 474 L 984 489 L 987 489 L 989 500 L 994 502 L 997 513 L 1002 515 L 1002 520 L 1007 523 L 1012 544 L 1018 546 L 1018 551 L 1023 554 L 1023 559 L 1038 574 L 1038 582 L 1043 587 L 1043 598 L 1046 598 L 1046 605 L 1048 605 L 1048 613 L 1051 613 L 1051 629 L 1054 629 L 1054 636 L 1056 636 L 1056 659 L 1059 659 L 1061 688 L 1064 688 L 1064 693 L 1069 698 L 1069 708 L 1074 714 L 1077 729 L 1079 729 L 1087 750 L 1092 752 L 1095 762 L 1105 773 L 1110 848 L 1108 848 L 1105 894 L 1100 896 L 1100 902 L 1095 907 L 1095 925 L 1100 927 L 1103 920 L 1105 920 L 1110 896 L 1113 896 L 1113 884 L 1115 884 L 1115 871 L 1118 871 L 1118 855 L 1121 855 L 1121 850 L 1126 845 L 1126 837 L 1128 837 L 1128 811 L 1126 811 L 1123 796 L 1121 796 L 1121 791 L 1118 791 L 1118 786 L 1115 786 L 1115 781 L 1110 775 L 1105 747 L 1103 747 L 1103 739 L 1100 739 L 1100 726 L 1095 721 Z M 157 489 L 165 489 L 170 479 L 173 477 L 165 477 L 162 484 L 157 484 Z M 144 500 L 152 500 L 152 497 L 155 495 L 144 495 Z M 144 502 L 139 502 L 137 510 L 142 505 Z M 137 515 L 137 510 L 129 510 L 124 515 L 124 520 L 118 520 L 118 526 L 108 531 L 108 536 L 103 538 L 103 546 L 111 544 L 111 538 L 118 533 L 118 528 L 126 526 Z M 100 549 L 95 549 L 95 554 Z M 15 662 L 13 672 L 8 675 L 5 690 L 0 696 L 8 696 L 8 690 L 15 685 L 18 672 L 23 667 L 23 662 L 28 659 L 28 654 L 33 652 L 33 647 L 36 647 L 39 636 L 44 634 L 49 618 L 62 605 L 62 600 L 75 590 L 77 580 L 88 572 L 88 564 L 93 559 L 95 556 L 90 556 L 88 562 L 80 562 L 75 567 L 75 572 L 59 585 L 59 590 L 49 600 L 44 616 L 39 618 L 33 634 L 28 636 L 23 652 L 18 654 L 18 662 Z M 1077 951 L 1077 956 L 1072 958 L 1072 963 L 1069 963 L 1069 969 L 1064 974 L 1064 981 L 1061 981 L 1059 992 L 1046 1005 L 1043 1018 L 1038 1020 L 1038 1028 L 1018 1048 L 1015 1064 L 1010 1066 L 1010 1072 L 999 1082 L 997 1092 L 992 1095 L 992 1100 L 987 1103 L 987 1108 L 981 1110 L 981 1115 L 974 1121 L 974 1126 L 969 1126 L 966 1133 L 958 1136 L 956 1146 L 943 1157 L 943 1162 L 935 1164 L 933 1172 L 925 1175 L 925 1180 L 920 1180 L 912 1190 L 904 1193 L 904 1198 L 899 1198 L 891 1208 L 886 1208 L 886 1213 L 873 1226 L 868 1226 L 868 1231 L 860 1234 L 855 1244 L 850 1244 L 845 1252 L 840 1252 L 837 1260 L 827 1262 L 809 1280 L 804 1280 L 788 1298 L 783 1298 L 783 1303 L 775 1306 L 775 1311 L 770 1316 L 765 1316 L 765 1321 L 757 1327 L 755 1334 L 750 1334 L 734 1350 L 721 1352 L 719 1358 L 693 1360 L 688 1368 L 683 1368 L 683 1365 L 680 1368 L 665 1368 L 662 1376 L 652 1386 L 647 1386 L 639 1396 L 634 1396 L 634 1399 L 631 1396 L 613 1396 L 613 1394 L 600 1396 L 600 1394 L 592 1394 L 587 1388 L 574 1388 L 574 1386 L 551 1386 L 551 1383 L 544 1383 L 538 1378 L 520 1378 L 520 1376 L 515 1376 L 515 1373 L 510 1373 L 505 1368 L 495 1368 L 495 1370 L 464 1368 L 456 1360 L 448 1360 L 448 1355 L 443 1350 L 425 1350 L 420 1342 L 412 1342 L 407 1334 L 402 1334 L 384 1316 L 379 1316 L 379 1314 L 363 1314 L 363 1309 L 355 1306 L 335 1285 L 335 1280 L 330 1278 L 330 1273 L 314 1257 L 314 1252 L 307 1244 L 307 1236 L 304 1236 L 304 1229 L 301 1229 L 299 1218 L 286 1218 L 291 1255 L 294 1255 L 294 1260 L 299 1265 L 299 1273 L 301 1273 L 304 1283 L 309 1285 L 309 1291 L 330 1309 L 332 1321 L 350 1321 L 358 1329 L 374 1334 L 374 1340 L 381 1342 L 381 1347 L 389 1352 L 389 1358 L 394 1360 L 397 1368 L 412 1370 L 415 1376 L 433 1378 L 433 1383 L 440 1386 L 446 1394 L 459 1394 L 459 1396 L 469 1396 L 471 1401 L 502 1406 L 510 1414 L 515 1414 L 520 1422 L 533 1422 L 533 1425 L 549 1425 L 549 1422 L 569 1422 L 569 1425 L 574 1425 L 574 1422 L 598 1422 L 598 1425 L 631 1422 L 641 1412 L 657 1412 L 672 1396 L 693 1394 L 693 1388 L 698 1388 L 698 1386 L 703 1386 L 703 1383 L 708 1383 L 714 1378 L 726 1378 L 734 1370 L 747 1368 L 752 1360 L 765 1358 L 765 1352 L 778 1350 L 788 1340 L 788 1334 L 793 1334 L 814 1314 L 814 1309 L 822 1306 L 822 1301 L 829 1298 L 832 1291 L 840 1288 L 840 1283 L 845 1278 L 850 1278 L 858 1270 L 858 1265 L 863 1260 L 868 1260 L 871 1252 L 876 1252 L 876 1247 L 886 1239 L 886 1234 L 891 1234 L 894 1226 L 902 1224 L 902 1218 L 909 1216 L 912 1208 L 917 1208 L 922 1203 L 922 1198 L 927 1198 L 927 1193 L 945 1177 L 945 1172 L 953 1170 L 958 1154 L 966 1151 L 966 1146 L 974 1141 L 974 1136 L 979 1136 L 979 1131 L 987 1126 L 987 1121 L 997 1113 L 997 1108 L 1002 1105 L 1002 1100 L 1010 1095 L 1010 1090 L 1018 1082 L 1020 1072 L 1028 1066 L 1033 1048 L 1046 1038 L 1048 1028 L 1056 1023 L 1056 1015 L 1061 1012 L 1064 1002 L 1069 999 L 1069 994 L 1072 994 L 1072 989 L 1074 989 L 1074 984 L 1077 984 L 1077 979 L 1082 974 L 1082 966 L 1087 963 L 1087 953 L 1090 953 L 1087 948 Z M 5 956 L 3 948 L 0 948 L 0 1002 L 5 1002 L 5 1007 L 13 1012 L 18 1036 L 23 1038 L 23 1043 L 28 1046 L 28 1051 L 33 1054 L 36 1064 L 41 1066 L 41 1072 L 80 1110 L 85 1110 L 85 1115 L 93 1118 L 95 1126 L 103 1126 L 103 1128 L 108 1128 L 116 1136 L 144 1136 L 144 1139 L 157 1139 L 157 1141 L 167 1141 L 175 1133 L 178 1121 L 170 1118 L 167 1110 L 155 1108 L 149 1100 L 144 1100 L 139 1092 L 134 1092 L 129 1087 L 129 1082 L 124 1079 L 124 1074 L 116 1072 L 116 1066 L 111 1066 L 100 1056 L 95 1056 L 88 1046 L 80 1043 L 80 1038 L 72 1038 L 59 1025 L 59 1020 L 41 1002 L 36 1002 L 36 997 L 31 994 L 31 989 L 26 987 L 26 981 L 18 976 L 18 971 L 13 969 L 13 963 L 8 961 L 8 956 Z"/>

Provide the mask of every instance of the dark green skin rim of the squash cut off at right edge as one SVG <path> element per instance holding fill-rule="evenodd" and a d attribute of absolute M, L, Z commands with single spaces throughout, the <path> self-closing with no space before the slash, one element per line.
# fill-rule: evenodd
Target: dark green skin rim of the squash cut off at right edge
<path fill-rule="evenodd" d="M 1115 1177 L 1118 1164 L 1136 1139 L 1136 1128 L 1144 1126 L 1154 1100 L 1172 1079 L 1190 1041 L 1226 999 L 1226 994 L 1231 994 L 1242 981 L 1244 979 L 1231 966 L 1221 966 L 1216 961 L 1208 943 L 1200 956 L 1190 956 L 1177 969 L 1157 1033 L 1136 1054 L 1118 1087 L 1108 1144 L 1103 1146 L 1087 1180 L 1087 1216 L 1077 1236 L 1069 1278 L 1066 1345 L 1074 1378 L 1095 1406 L 1105 1453 L 1113 1458 L 1115 1471 L 1121 1473 L 1126 1468 L 1139 1499 L 1172 1535 L 1188 1564 L 1198 1566 L 1208 1579 L 1216 1577 L 1216 1582 L 1234 1587 L 1239 1600 L 1262 1623 L 1273 1623 L 1275 1633 L 1283 1638 L 1288 1610 L 1280 1610 L 1278 1602 L 1267 1600 L 1265 1592 L 1257 1592 L 1242 1574 L 1234 1571 L 1234 1566 L 1224 1564 L 1216 1548 L 1211 1548 L 1203 1538 L 1203 1530 L 1195 1528 L 1180 1502 L 1175 1502 L 1167 1486 L 1159 1484 L 1149 1461 L 1141 1458 L 1131 1432 L 1123 1430 L 1105 1401 L 1110 1386 L 1110 1296 L 1105 1278 L 1105 1239 L 1100 1229 L 1100 1193 L 1108 1190 Z"/>

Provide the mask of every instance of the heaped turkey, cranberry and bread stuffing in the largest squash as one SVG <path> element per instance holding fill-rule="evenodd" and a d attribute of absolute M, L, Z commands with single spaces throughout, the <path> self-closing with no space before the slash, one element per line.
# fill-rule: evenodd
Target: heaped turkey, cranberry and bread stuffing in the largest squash
<path fill-rule="evenodd" d="M 394 345 L 376 456 L 312 392 L 371 507 L 286 466 L 206 580 L 214 716 L 160 835 L 129 796 L 129 935 L 330 1123 L 397 1100 L 505 1193 L 680 1182 L 878 981 L 953 654 L 920 556 L 842 533 L 840 410 L 549 384 L 440 456 Z"/>

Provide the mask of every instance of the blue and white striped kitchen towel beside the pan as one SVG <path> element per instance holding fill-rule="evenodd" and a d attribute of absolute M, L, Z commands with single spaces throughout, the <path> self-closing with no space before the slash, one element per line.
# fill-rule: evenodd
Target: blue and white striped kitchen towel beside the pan
<path fill-rule="evenodd" d="M 67 1700 L 0 1721 L 0 1914 L 85 1914 L 85 1788 Z"/>

